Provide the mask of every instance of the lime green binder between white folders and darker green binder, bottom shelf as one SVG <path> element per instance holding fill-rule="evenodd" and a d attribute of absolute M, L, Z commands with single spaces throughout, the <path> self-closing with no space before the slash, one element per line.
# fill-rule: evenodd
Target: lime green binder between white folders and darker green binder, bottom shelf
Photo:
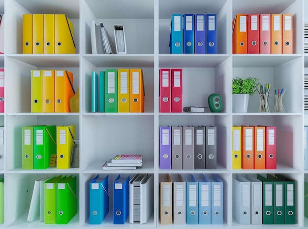
<path fill-rule="evenodd" d="M 45 182 L 44 190 L 44 222 L 45 224 L 55 224 L 57 219 L 57 182 L 62 178 L 62 175 L 51 178 Z"/>

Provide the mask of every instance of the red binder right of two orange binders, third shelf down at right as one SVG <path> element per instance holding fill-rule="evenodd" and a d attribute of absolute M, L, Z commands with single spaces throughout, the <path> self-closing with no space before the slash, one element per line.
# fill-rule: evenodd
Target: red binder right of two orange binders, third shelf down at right
<path fill-rule="evenodd" d="M 276 169 L 276 127 L 265 127 L 265 169 Z"/>

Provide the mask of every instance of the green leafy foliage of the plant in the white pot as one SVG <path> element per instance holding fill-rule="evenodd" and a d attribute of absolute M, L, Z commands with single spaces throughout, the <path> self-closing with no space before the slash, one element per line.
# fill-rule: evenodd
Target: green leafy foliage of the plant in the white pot
<path fill-rule="evenodd" d="M 232 94 L 249 94 L 252 96 L 257 92 L 257 87 L 261 85 L 256 77 L 232 79 Z"/>

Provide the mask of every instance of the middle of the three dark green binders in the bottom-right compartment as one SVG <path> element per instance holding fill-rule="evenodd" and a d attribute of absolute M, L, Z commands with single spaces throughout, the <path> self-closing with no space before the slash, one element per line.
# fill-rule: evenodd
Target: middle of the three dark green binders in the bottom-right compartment
<path fill-rule="evenodd" d="M 286 202 L 284 181 L 270 174 L 267 178 L 274 181 L 274 224 L 284 224 Z"/>

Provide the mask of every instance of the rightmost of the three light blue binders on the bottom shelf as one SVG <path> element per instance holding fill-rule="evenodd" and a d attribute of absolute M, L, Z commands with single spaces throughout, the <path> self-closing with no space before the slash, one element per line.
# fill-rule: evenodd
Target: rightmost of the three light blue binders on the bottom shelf
<path fill-rule="evenodd" d="M 211 223 L 223 224 L 223 183 L 213 174 L 211 181 Z"/>

